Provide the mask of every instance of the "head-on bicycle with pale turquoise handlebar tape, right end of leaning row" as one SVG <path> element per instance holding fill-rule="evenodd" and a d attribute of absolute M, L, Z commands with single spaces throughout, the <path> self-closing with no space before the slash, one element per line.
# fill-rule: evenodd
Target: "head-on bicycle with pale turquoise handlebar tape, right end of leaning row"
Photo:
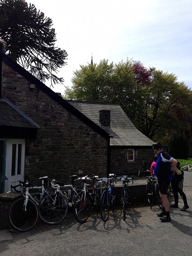
<path fill-rule="evenodd" d="M 123 206 L 123 219 L 126 218 L 126 211 L 127 211 L 127 205 L 128 205 L 128 199 L 129 199 L 129 182 L 132 181 L 133 184 L 133 176 L 131 178 L 128 178 L 128 176 L 124 175 L 121 177 L 118 177 L 117 179 L 121 179 L 123 181 L 122 183 L 122 197 L 121 197 L 121 203 Z"/>

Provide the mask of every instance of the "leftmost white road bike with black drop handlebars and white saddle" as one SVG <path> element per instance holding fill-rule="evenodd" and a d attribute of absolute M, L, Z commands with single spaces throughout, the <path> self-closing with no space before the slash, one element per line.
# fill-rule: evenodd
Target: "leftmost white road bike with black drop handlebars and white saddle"
<path fill-rule="evenodd" d="M 23 198 L 16 199 L 9 209 L 9 221 L 18 231 L 28 231 L 36 225 L 39 216 L 39 202 L 37 198 L 34 198 L 29 193 L 29 189 L 41 189 L 41 197 L 43 198 L 44 193 L 48 194 L 48 191 L 44 188 L 44 183 L 50 181 L 47 176 L 41 177 L 39 180 L 42 180 L 42 186 L 40 187 L 34 187 L 27 180 L 19 181 L 19 185 L 16 186 L 11 185 L 11 191 L 13 191 L 13 189 L 16 192 L 23 191 Z M 17 190 L 17 187 L 20 187 L 20 190 Z"/>

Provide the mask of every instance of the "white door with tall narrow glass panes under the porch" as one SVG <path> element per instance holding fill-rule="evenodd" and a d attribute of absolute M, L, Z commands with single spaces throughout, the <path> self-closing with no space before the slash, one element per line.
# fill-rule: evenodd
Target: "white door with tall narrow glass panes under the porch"
<path fill-rule="evenodd" d="M 7 140 L 5 192 L 24 179 L 25 140 Z"/>

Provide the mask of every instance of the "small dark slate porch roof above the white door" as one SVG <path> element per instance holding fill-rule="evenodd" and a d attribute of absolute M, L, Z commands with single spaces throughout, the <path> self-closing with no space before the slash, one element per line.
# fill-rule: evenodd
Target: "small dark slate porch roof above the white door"
<path fill-rule="evenodd" d="M 0 126 L 39 128 L 38 124 L 5 97 L 0 97 Z"/>

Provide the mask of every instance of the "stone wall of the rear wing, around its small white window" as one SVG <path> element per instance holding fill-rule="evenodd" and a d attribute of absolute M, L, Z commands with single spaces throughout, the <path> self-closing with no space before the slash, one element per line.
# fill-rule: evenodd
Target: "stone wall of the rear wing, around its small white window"
<path fill-rule="evenodd" d="M 127 161 L 128 148 L 111 149 L 111 173 L 115 175 L 137 175 L 144 170 L 144 163 L 153 162 L 153 151 L 150 148 L 135 148 L 134 162 Z"/>

